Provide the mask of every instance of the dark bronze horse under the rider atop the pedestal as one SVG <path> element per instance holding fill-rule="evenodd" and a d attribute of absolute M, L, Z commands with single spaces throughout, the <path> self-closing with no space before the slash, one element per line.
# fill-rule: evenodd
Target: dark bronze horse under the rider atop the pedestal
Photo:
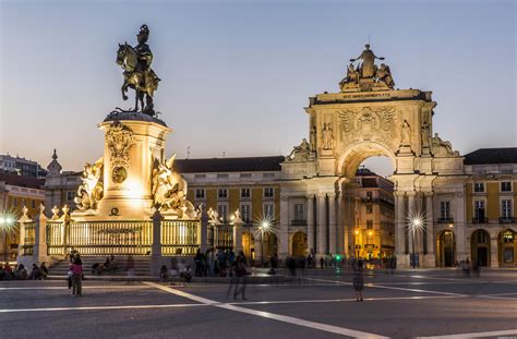
<path fill-rule="evenodd" d="M 128 100 L 125 95 L 128 87 L 133 88 L 135 90 L 134 111 L 139 110 L 140 101 L 142 112 L 154 116 L 153 94 L 158 88 L 158 82 L 160 81 L 158 76 L 151 68 L 148 70 L 139 70 L 139 55 L 128 43 L 124 45 L 119 44 L 117 64 L 124 70 L 124 83 L 121 87 L 122 98 Z"/>

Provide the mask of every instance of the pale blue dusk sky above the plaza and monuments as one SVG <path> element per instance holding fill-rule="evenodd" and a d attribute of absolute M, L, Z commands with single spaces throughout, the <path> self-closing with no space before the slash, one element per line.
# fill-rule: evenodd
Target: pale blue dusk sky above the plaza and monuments
<path fill-rule="evenodd" d="M 155 108 L 179 158 L 287 155 L 309 97 L 338 92 L 364 48 L 396 87 L 432 90 L 461 154 L 517 146 L 516 1 L 0 1 L 0 154 L 64 170 L 103 156 L 118 44 L 151 28 Z"/>

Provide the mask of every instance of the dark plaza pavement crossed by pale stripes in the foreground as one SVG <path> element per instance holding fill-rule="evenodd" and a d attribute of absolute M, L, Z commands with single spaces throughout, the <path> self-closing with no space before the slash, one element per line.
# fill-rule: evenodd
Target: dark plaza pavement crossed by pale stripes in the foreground
<path fill-rule="evenodd" d="M 300 277 L 301 271 L 298 271 Z M 348 271 L 286 283 L 0 281 L 0 338 L 517 338 L 517 270 L 369 271 L 356 302 Z"/>

